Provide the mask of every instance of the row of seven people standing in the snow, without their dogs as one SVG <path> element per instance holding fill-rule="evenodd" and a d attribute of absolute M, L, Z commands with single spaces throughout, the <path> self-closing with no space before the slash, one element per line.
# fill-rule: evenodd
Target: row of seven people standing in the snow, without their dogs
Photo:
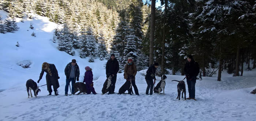
<path fill-rule="evenodd" d="M 155 83 L 155 72 L 158 66 L 159 66 L 158 63 L 154 63 L 147 69 L 146 76 L 145 76 L 145 79 L 147 82 L 146 95 L 148 95 L 149 91 L 150 91 L 149 92 L 150 95 L 153 94 L 153 88 Z M 92 69 L 86 66 L 85 70 L 86 72 L 84 73 L 83 83 L 86 84 L 87 94 L 91 94 L 91 92 L 93 94 L 97 94 L 93 87 Z M 115 58 L 115 55 L 111 54 L 110 59 L 106 63 L 106 77 L 108 78 L 109 76 L 112 76 L 111 84 L 109 87 L 110 88 L 109 94 L 115 93 L 114 90 L 115 90 L 118 71 L 119 71 L 119 63 Z M 58 95 L 57 88 L 60 87 L 58 82 L 58 79 L 60 79 L 60 77 L 58 75 L 58 71 L 55 65 L 44 62 L 42 64 L 42 71 L 40 73 L 39 80 L 37 81 L 37 83 L 39 83 L 39 81 L 42 79 L 44 72 L 46 72 L 46 84 L 47 84 L 47 90 L 49 91 L 49 95 L 52 95 L 51 86 L 53 86 L 54 95 Z M 79 81 L 80 71 L 79 71 L 79 66 L 76 63 L 75 59 L 72 59 L 72 61 L 67 64 L 64 72 L 66 76 L 65 95 L 67 96 L 69 83 L 71 82 L 71 85 L 72 85 L 71 93 L 74 94 L 74 84 L 76 81 Z M 195 99 L 195 83 L 196 83 L 196 76 L 199 73 L 199 65 L 193 60 L 192 55 L 188 55 L 187 62 L 184 67 L 184 72 L 187 77 L 188 92 L 189 92 L 189 98 L 187 99 L 196 100 Z M 137 73 L 136 65 L 133 62 L 132 58 L 129 57 L 128 63 L 125 65 L 125 68 L 124 68 L 124 79 L 126 79 L 126 81 L 131 81 L 135 94 L 139 95 L 138 87 L 135 84 L 136 73 Z"/>

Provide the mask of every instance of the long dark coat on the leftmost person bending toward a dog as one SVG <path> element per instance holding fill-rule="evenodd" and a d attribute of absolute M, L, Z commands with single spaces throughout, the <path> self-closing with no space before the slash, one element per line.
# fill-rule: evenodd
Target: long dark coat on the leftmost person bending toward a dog
<path fill-rule="evenodd" d="M 50 71 L 52 72 L 52 76 L 49 75 L 47 69 L 42 68 L 39 79 L 41 80 L 44 75 L 44 72 L 46 72 L 47 90 L 49 90 L 49 88 L 50 88 L 49 84 L 52 84 L 53 87 L 59 88 L 60 84 L 58 81 L 58 79 L 59 79 L 58 71 L 54 64 L 49 64 L 49 68 L 50 68 Z"/>

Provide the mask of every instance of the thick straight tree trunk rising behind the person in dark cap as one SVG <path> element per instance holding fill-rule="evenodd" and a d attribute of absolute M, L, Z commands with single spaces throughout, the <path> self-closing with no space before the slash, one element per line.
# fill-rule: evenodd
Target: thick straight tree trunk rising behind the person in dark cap
<path fill-rule="evenodd" d="M 155 34 L 155 0 L 151 0 L 151 18 L 150 18 L 150 47 L 149 47 L 149 65 L 151 66 L 154 62 L 154 34 Z"/>

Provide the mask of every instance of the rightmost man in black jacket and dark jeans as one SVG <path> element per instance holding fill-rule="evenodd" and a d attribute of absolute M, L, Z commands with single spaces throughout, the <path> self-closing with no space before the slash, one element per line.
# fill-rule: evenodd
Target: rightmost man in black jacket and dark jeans
<path fill-rule="evenodd" d="M 184 72 L 187 77 L 188 93 L 189 93 L 189 97 L 187 99 L 193 99 L 196 101 L 195 85 L 196 85 L 196 76 L 198 75 L 199 70 L 200 70 L 199 64 L 195 62 L 192 55 L 188 55 L 188 58 L 184 67 Z"/>

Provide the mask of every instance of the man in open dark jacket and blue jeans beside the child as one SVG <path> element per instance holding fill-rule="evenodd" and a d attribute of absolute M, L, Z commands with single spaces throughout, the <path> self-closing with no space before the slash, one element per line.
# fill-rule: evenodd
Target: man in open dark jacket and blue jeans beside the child
<path fill-rule="evenodd" d="M 70 84 L 70 81 L 71 81 L 71 85 L 72 85 L 72 88 L 71 88 L 72 94 L 74 94 L 74 92 L 75 92 L 73 86 L 74 86 L 76 80 L 79 81 L 80 71 L 79 71 L 79 67 L 78 67 L 75 59 L 72 59 L 72 61 L 67 64 L 64 72 L 66 75 L 65 95 L 67 96 L 68 95 L 68 86 Z"/>

